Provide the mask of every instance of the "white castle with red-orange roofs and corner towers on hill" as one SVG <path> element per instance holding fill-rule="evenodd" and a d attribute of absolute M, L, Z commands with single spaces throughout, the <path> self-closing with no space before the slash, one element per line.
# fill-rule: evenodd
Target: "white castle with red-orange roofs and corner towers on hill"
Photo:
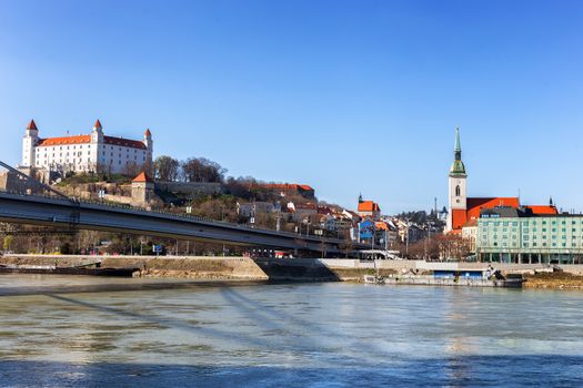
<path fill-rule="evenodd" d="M 137 174 L 152 164 L 152 151 L 150 130 L 145 130 L 141 141 L 105 136 L 98 120 L 91 134 L 41 139 L 31 120 L 22 139 L 21 167 L 59 173 Z"/>

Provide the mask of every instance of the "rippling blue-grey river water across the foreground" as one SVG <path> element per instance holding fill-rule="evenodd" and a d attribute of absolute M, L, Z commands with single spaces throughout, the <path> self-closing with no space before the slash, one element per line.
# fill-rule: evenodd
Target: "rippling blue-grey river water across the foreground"
<path fill-rule="evenodd" d="M 579 292 L 143 285 L 0 276 L 0 386 L 583 386 Z"/>

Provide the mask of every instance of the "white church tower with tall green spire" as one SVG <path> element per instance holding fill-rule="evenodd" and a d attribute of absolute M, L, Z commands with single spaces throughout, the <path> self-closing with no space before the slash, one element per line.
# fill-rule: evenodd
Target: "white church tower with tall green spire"
<path fill-rule="evenodd" d="M 453 214 L 459 211 L 466 211 L 466 180 L 465 166 L 462 162 L 462 146 L 460 143 L 460 129 L 455 129 L 455 147 L 453 150 L 453 164 L 450 169 L 448 176 L 448 191 L 449 191 L 449 215 L 446 232 L 453 229 Z M 465 217 L 464 217 L 465 218 Z"/>

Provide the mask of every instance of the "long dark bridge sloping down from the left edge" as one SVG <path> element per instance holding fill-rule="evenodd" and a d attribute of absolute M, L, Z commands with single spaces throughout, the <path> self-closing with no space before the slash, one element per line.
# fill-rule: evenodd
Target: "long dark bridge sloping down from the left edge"
<path fill-rule="evenodd" d="M 190 215 L 69 198 L 2 162 L 0 165 L 18 174 L 19 178 L 26 183 L 23 186 L 28 187 L 18 192 L 0 190 L 0 222 L 4 223 L 188 238 L 228 245 L 319 252 L 332 255 L 370 248 L 363 244 L 346 243 L 336 238 L 299 235 Z"/>

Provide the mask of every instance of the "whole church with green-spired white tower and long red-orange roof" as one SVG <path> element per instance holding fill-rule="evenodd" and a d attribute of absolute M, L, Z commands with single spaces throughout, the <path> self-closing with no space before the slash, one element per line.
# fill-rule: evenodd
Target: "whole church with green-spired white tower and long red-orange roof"
<path fill-rule="evenodd" d="M 475 228 L 480 212 L 494 207 L 522 208 L 533 215 L 557 214 L 556 207 L 550 205 L 521 205 L 520 198 L 512 196 L 495 197 L 469 197 L 468 196 L 468 174 L 462 162 L 462 146 L 460 142 L 460 129 L 455 130 L 455 146 L 453 150 L 453 164 L 448 176 L 448 201 L 449 214 L 445 233 L 462 234 L 465 228 Z M 469 233 L 473 235 L 474 233 Z M 465 233 L 464 233 L 465 235 Z"/>

